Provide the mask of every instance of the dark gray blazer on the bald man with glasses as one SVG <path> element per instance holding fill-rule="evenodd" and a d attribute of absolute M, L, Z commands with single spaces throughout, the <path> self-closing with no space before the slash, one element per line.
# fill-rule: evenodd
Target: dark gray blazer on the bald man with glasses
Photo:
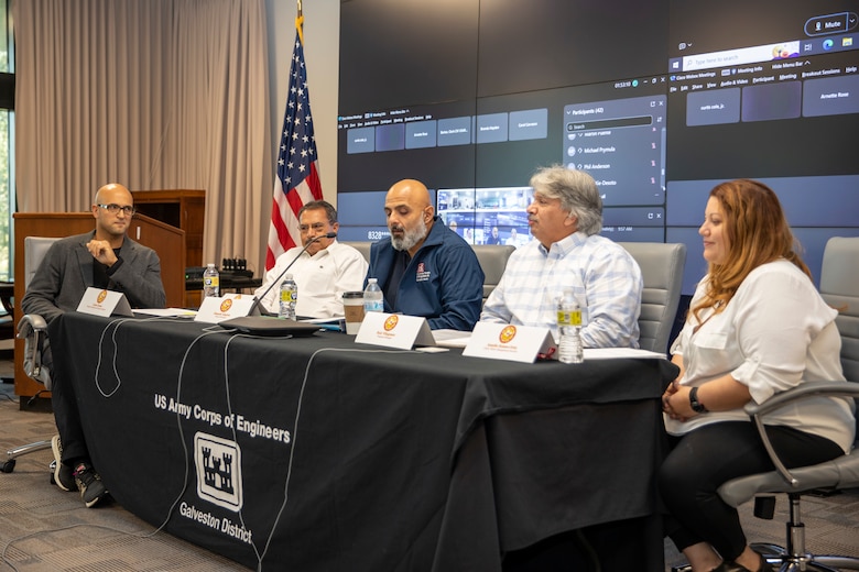
<path fill-rule="evenodd" d="M 95 258 L 86 244 L 95 234 L 94 230 L 51 245 L 21 300 L 24 314 L 39 314 L 51 322 L 64 311 L 77 309 L 93 286 Z M 110 276 L 108 289 L 123 293 L 132 308 L 163 308 L 166 295 L 155 251 L 126 237 L 120 256 L 122 265 Z"/>

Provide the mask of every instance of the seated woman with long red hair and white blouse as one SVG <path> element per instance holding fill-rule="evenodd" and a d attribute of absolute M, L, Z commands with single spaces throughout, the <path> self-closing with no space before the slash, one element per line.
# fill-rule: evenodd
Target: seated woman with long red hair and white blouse
<path fill-rule="evenodd" d="M 662 399 L 672 442 L 660 471 L 666 532 L 694 572 L 770 571 L 717 490 L 774 469 L 743 411 L 747 403 L 805 382 L 844 381 L 838 312 L 815 288 L 779 198 L 765 185 L 717 185 L 698 233 L 708 271 L 672 345 L 681 373 Z M 849 451 L 855 424 L 852 402 L 834 397 L 809 398 L 764 418 L 789 468 Z"/>

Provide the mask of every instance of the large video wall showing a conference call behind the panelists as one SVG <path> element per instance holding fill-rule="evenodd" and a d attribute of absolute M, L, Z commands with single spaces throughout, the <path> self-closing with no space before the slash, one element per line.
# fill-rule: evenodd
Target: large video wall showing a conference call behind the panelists
<path fill-rule="evenodd" d="M 859 235 L 857 2 L 350 0 L 341 3 L 341 240 L 388 235 L 401 178 L 474 244 L 531 240 L 531 175 L 588 172 L 602 234 L 687 245 L 719 182 L 780 196 L 819 275 Z"/>

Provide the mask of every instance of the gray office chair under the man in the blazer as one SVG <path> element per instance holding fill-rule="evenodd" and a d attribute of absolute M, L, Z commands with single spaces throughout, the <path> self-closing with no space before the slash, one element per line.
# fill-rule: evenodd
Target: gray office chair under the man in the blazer
<path fill-rule="evenodd" d="M 51 244 L 59 239 L 45 237 L 24 238 L 24 289 L 30 285 L 36 268 L 47 253 Z M 42 363 L 42 350 L 47 342 L 47 324 L 39 315 L 28 314 L 18 322 L 18 338 L 24 340 L 23 370 L 28 377 L 35 380 L 45 386 L 43 391 L 51 391 L 51 371 Z M 40 392 L 41 393 L 41 392 Z M 15 459 L 19 457 L 51 449 L 51 440 L 28 443 L 7 451 L 7 460 L 0 465 L 0 472 L 11 473 L 15 468 Z M 51 472 L 53 479 L 53 471 Z"/>

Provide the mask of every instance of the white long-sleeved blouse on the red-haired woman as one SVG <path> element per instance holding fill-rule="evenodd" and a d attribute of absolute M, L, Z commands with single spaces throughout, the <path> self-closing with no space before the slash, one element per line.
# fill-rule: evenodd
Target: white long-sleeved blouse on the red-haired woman
<path fill-rule="evenodd" d="M 704 297 L 706 283 L 705 276 L 691 307 Z M 689 312 L 671 350 L 683 356 L 685 373 L 679 383 L 700 386 L 730 374 L 760 404 L 806 381 L 845 381 L 837 315 L 793 263 L 763 264 L 749 273 L 724 311 L 702 312 L 704 323 L 697 331 L 698 320 Z M 741 408 L 696 415 L 685 422 L 665 416 L 665 428 L 683 435 L 726 420 L 748 421 L 749 417 Z M 809 397 L 771 413 L 764 422 L 825 437 L 845 452 L 856 431 L 853 402 L 845 398 Z"/>

